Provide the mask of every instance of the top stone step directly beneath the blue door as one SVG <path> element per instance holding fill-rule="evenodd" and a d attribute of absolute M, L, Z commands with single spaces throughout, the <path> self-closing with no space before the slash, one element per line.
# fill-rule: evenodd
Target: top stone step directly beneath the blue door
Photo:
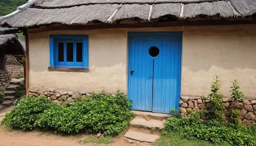
<path fill-rule="evenodd" d="M 132 110 L 132 113 L 137 117 L 143 117 L 145 119 L 157 119 L 157 120 L 164 120 L 166 118 L 173 116 L 171 114 L 165 114 L 165 113 L 153 113 L 153 112 L 136 111 L 136 110 Z"/>

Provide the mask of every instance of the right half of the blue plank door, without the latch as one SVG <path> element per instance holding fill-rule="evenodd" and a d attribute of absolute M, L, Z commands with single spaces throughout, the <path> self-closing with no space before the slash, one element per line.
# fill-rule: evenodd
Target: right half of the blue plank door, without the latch
<path fill-rule="evenodd" d="M 153 112 L 178 109 L 180 99 L 181 49 L 178 37 L 155 38 L 159 56 L 154 59 Z"/>

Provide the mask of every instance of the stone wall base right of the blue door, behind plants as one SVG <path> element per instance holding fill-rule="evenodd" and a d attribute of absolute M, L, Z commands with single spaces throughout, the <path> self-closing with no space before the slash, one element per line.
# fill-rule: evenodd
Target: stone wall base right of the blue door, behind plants
<path fill-rule="evenodd" d="M 225 105 L 224 116 L 228 119 L 230 113 L 230 106 L 233 101 L 230 98 L 223 98 L 222 103 Z M 188 96 L 181 96 L 180 100 L 181 116 L 187 115 L 189 110 L 201 111 L 210 105 L 209 100 L 202 100 L 201 98 L 189 98 Z M 235 102 L 234 106 L 240 109 L 240 117 L 242 122 L 248 120 L 256 121 L 256 100 L 246 100 Z M 201 115 L 202 119 L 206 119 Z"/>

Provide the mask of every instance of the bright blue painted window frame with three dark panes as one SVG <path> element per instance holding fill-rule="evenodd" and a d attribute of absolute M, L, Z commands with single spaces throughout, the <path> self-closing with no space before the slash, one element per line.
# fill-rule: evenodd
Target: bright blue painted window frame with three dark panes
<path fill-rule="evenodd" d="M 58 43 L 64 43 L 64 61 L 58 61 Z M 67 43 L 73 43 L 73 61 L 67 61 Z M 82 43 L 82 62 L 76 61 L 76 43 Z M 50 66 L 88 67 L 88 35 L 50 35 Z"/>

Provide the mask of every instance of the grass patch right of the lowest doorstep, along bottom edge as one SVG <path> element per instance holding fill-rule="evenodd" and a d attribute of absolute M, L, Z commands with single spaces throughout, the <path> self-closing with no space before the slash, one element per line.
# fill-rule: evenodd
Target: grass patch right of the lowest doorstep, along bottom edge
<path fill-rule="evenodd" d="M 204 140 L 188 140 L 179 136 L 177 133 L 161 132 L 161 137 L 154 143 L 156 146 L 229 146 L 228 143 L 211 143 Z"/>

